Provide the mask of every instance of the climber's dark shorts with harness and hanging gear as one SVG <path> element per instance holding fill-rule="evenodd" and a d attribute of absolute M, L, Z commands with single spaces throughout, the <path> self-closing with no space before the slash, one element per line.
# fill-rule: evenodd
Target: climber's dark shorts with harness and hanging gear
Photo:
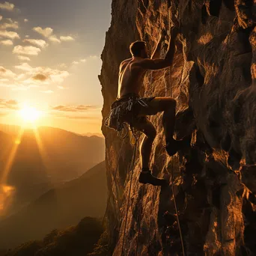
<path fill-rule="evenodd" d="M 141 116 L 139 113 L 142 108 L 149 108 L 148 103 L 155 97 L 142 98 L 138 94 L 127 94 L 121 99 L 115 100 L 112 103 L 109 116 L 106 118 L 106 126 L 112 129 L 121 131 L 124 123 L 138 124 L 146 121 L 146 116 Z"/>

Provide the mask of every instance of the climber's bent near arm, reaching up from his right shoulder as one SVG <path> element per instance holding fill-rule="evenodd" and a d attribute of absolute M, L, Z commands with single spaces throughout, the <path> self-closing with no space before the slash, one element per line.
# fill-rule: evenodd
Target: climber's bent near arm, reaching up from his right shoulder
<path fill-rule="evenodd" d="M 138 61 L 134 66 L 141 67 L 144 70 L 161 70 L 162 68 L 171 66 L 174 60 L 175 53 L 175 43 L 178 34 L 178 28 L 173 28 L 171 30 L 171 37 L 169 40 L 168 50 L 166 52 L 165 58 L 150 59 L 146 58 L 144 60 Z"/>

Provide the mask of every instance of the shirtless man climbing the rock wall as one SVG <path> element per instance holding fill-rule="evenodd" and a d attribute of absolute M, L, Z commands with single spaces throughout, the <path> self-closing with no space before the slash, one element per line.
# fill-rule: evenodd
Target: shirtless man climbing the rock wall
<path fill-rule="evenodd" d="M 165 149 L 170 156 L 173 156 L 177 153 L 177 150 L 180 150 L 184 146 L 184 141 L 176 141 L 173 138 L 176 101 L 171 97 L 141 98 L 138 93 L 141 90 L 141 85 L 147 70 L 161 70 L 171 66 L 174 60 L 177 34 L 178 29 L 172 28 L 168 51 L 165 58 L 159 58 L 159 49 L 161 48 L 162 40 L 165 37 L 165 33 L 163 32 L 161 33 L 161 37 L 151 58 L 148 58 L 147 45 L 144 41 L 135 41 L 130 45 L 129 49 L 132 58 L 122 61 L 120 65 L 118 100 L 112 104 L 113 109 L 133 97 L 132 119 L 127 118 L 125 121 L 133 128 L 144 133 L 140 148 L 142 170 L 138 180 L 140 183 L 150 183 L 154 186 L 165 185 L 166 181 L 164 179 L 153 177 L 149 169 L 150 153 L 153 140 L 156 137 L 156 129 L 153 127 L 153 124 L 147 120 L 146 116 L 164 112 L 162 116 L 162 125 L 165 132 Z M 142 104 L 138 102 L 138 99 L 142 100 Z M 128 117 L 129 113 L 124 114 L 124 117 L 126 115 Z"/>

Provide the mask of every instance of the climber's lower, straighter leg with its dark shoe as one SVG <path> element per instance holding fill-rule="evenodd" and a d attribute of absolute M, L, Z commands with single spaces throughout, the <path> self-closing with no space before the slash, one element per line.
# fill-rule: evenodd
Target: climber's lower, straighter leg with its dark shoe
<path fill-rule="evenodd" d="M 138 177 L 138 181 L 143 184 L 151 184 L 153 186 L 165 186 L 166 180 L 154 177 L 149 169 L 150 153 L 152 150 L 153 140 L 156 137 L 156 129 L 146 117 L 138 118 L 138 122 L 132 124 L 132 127 L 144 133 L 141 143 L 141 165 L 142 170 Z"/>

